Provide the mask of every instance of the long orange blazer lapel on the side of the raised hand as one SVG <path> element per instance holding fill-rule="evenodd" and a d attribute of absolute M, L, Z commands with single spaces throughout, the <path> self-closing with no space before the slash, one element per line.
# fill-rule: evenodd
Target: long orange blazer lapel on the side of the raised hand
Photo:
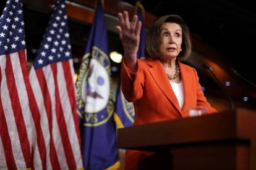
<path fill-rule="evenodd" d="M 179 102 L 177 101 L 177 97 L 173 92 L 173 88 L 169 83 L 169 79 L 164 71 L 163 65 L 161 64 L 160 60 L 148 60 L 148 71 L 150 71 L 151 76 L 155 80 L 155 83 L 160 87 L 161 91 L 164 95 L 169 99 L 171 103 L 173 103 L 174 107 L 179 111 L 181 114 L 181 108 L 179 107 Z"/>

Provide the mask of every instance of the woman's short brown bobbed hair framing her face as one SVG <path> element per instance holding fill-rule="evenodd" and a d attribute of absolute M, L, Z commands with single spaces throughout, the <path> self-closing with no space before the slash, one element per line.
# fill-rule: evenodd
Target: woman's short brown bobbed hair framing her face
<path fill-rule="evenodd" d="M 160 44 L 162 42 L 161 31 L 163 29 L 163 24 L 166 22 L 177 23 L 181 26 L 182 51 L 177 56 L 177 59 L 179 60 L 187 59 L 192 49 L 192 44 L 190 41 L 190 31 L 189 31 L 189 27 L 182 20 L 182 18 L 179 17 L 179 15 L 165 15 L 163 17 L 158 18 L 158 20 L 155 21 L 155 23 L 153 24 L 153 26 L 151 26 L 147 34 L 146 44 L 145 44 L 145 54 L 148 55 L 148 57 L 151 57 L 153 59 L 159 59 L 161 57 L 161 51 L 160 51 Z"/>

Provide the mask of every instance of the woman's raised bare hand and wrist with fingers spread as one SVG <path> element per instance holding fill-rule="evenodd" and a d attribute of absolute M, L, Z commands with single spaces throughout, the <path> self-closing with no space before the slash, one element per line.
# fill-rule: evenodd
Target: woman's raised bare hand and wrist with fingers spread
<path fill-rule="evenodd" d="M 118 14 L 119 25 L 116 29 L 119 31 L 119 38 L 124 46 L 124 62 L 131 71 L 135 71 L 137 62 L 137 51 L 140 43 L 140 28 L 142 23 L 138 22 L 138 16 L 134 15 L 132 22 L 129 21 L 127 11 Z"/>

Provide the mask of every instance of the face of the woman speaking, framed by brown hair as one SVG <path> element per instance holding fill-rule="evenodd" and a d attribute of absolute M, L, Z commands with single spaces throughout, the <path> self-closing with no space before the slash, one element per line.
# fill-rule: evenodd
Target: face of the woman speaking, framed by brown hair
<path fill-rule="evenodd" d="M 182 29 L 177 23 L 166 22 L 161 30 L 162 43 L 160 51 L 163 59 L 177 57 L 181 51 Z"/>

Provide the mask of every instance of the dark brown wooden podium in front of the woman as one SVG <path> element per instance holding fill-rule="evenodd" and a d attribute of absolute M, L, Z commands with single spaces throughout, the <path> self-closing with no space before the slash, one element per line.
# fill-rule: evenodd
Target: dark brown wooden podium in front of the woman
<path fill-rule="evenodd" d="M 241 108 L 117 129 L 117 148 L 162 155 L 159 169 L 256 170 L 255 141 L 256 112 Z"/>

